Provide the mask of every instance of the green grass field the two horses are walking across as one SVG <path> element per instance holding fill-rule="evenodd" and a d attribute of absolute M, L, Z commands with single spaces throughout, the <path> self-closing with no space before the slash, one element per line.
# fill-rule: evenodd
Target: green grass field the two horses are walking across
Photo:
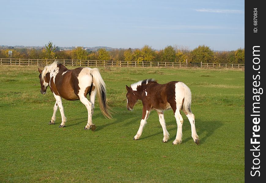
<path fill-rule="evenodd" d="M 243 71 L 100 68 L 116 113 L 106 119 L 96 101 L 93 132 L 83 129 L 87 109 L 80 101 L 63 100 L 65 128 L 58 128 L 59 110 L 56 124 L 48 125 L 55 99 L 49 88 L 41 95 L 37 68 L 0 66 L 0 182 L 244 182 Z M 191 89 L 199 145 L 184 113 L 183 142 L 172 145 L 172 110 L 164 115 L 167 143 L 155 111 L 133 140 L 142 103 L 127 111 L 125 85 L 146 78 L 182 81 Z"/>

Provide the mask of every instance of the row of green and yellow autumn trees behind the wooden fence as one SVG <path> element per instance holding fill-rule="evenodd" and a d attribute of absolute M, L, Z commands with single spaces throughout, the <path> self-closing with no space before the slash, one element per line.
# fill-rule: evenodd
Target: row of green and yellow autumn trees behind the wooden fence
<path fill-rule="evenodd" d="M 12 51 L 12 56 L 9 51 Z M 78 60 L 114 60 L 114 61 L 158 61 L 158 62 L 183 62 L 183 63 L 245 63 L 245 49 L 238 48 L 235 51 L 213 51 L 208 46 L 199 45 L 194 50 L 187 47 L 168 45 L 162 50 L 152 49 L 149 45 L 135 49 L 113 49 L 106 51 L 88 51 L 82 47 L 73 50 L 60 51 L 58 47 L 48 42 L 42 49 L 0 49 L 0 58 L 21 59 L 78 59 Z"/>

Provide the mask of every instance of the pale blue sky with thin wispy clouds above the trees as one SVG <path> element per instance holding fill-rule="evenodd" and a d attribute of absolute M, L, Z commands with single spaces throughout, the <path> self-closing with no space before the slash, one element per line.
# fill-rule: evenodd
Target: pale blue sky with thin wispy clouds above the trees
<path fill-rule="evenodd" d="M 244 0 L 0 0 L 0 45 L 245 46 Z"/>

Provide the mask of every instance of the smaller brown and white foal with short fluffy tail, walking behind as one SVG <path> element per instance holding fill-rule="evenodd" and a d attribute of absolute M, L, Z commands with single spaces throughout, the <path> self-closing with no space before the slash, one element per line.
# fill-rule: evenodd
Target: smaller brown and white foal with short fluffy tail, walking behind
<path fill-rule="evenodd" d="M 127 89 L 127 109 L 132 110 L 133 106 L 138 100 L 142 100 L 142 120 L 140 127 L 133 138 L 138 140 L 142 134 L 143 127 L 149 117 L 150 111 L 155 109 L 159 116 L 160 124 L 163 128 L 164 138 L 163 142 L 167 142 L 169 133 L 165 126 L 164 110 L 173 109 L 176 123 L 177 133 L 173 144 L 180 144 L 182 142 L 182 125 L 183 118 L 180 114 L 182 110 L 191 125 L 191 133 L 194 142 L 198 145 L 199 138 L 195 128 L 195 116 L 191 112 L 191 91 L 186 84 L 179 81 L 171 81 L 166 84 L 158 84 L 154 79 L 146 79 L 134 84 L 130 87 L 126 85 Z"/>

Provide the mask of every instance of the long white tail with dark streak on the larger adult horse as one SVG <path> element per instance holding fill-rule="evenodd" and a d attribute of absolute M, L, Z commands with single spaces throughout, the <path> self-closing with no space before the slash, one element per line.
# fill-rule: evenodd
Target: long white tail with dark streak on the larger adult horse
<path fill-rule="evenodd" d="M 102 76 L 97 68 L 93 68 L 91 70 L 91 75 L 97 91 L 100 109 L 106 118 L 111 119 L 112 116 L 109 112 L 109 106 L 106 103 L 106 86 L 102 79 Z"/>

